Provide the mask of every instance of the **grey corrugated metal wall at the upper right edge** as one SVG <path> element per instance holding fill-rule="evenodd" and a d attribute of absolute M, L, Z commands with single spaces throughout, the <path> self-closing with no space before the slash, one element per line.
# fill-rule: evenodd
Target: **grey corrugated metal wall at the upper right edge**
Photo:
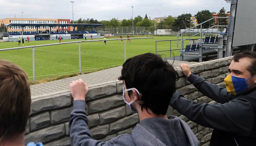
<path fill-rule="evenodd" d="M 256 44 L 256 0 L 238 0 L 233 47 Z"/>

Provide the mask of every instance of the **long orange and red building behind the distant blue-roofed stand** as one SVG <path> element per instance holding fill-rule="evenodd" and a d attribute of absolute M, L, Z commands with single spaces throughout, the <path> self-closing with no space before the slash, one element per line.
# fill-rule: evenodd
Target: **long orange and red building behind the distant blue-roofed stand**
<path fill-rule="evenodd" d="M 40 19 L 40 18 L 4 18 L 0 19 L 0 23 L 8 25 L 8 24 L 16 24 L 16 23 L 27 23 L 27 24 L 69 24 L 70 19 Z M 38 27 L 38 31 L 45 31 L 45 29 L 49 29 L 49 26 L 40 26 Z M 62 31 L 62 28 L 60 26 L 53 26 L 51 28 L 52 31 Z M 8 27 L 8 32 L 21 32 L 22 27 L 21 26 L 11 26 Z M 72 27 L 66 26 L 64 27 L 64 31 L 73 31 Z M 24 27 L 24 32 L 36 32 L 35 26 L 26 26 Z"/>

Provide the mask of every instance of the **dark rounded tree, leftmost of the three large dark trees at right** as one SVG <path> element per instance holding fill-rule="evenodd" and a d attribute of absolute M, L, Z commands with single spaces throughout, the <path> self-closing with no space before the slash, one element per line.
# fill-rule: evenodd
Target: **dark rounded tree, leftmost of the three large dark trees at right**
<path fill-rule="evenodd" d="M 191 17 L 190 13 L 181 14 L 174 19 L 173 26 L 180 27 L 180 29 L 189 28 L 191 26 Z"/>

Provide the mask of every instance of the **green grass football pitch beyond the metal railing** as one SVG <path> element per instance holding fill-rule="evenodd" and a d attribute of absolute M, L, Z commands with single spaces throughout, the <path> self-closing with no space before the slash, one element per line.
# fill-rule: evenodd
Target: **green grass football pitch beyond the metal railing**
<path fill-rule="evenodd" d="M 132 42 L 129 43 L 127 43 L 126 40 L 126 58 L 130 58 L 132 56 L 147 52 L 155 53 L 155 40 L 177 39 L 177 37 L 175 36 L 153 37 L 154 39 L 135 39 L 131 40 Z M 124 36 L 124 38 L 126 37 Z M 77 40 L 79 39 L 62 40 L 62 42 Z M 29 43 L 25 41 L 24 46 L 33 46 L 58 42 L 59 40 L 30 41 Z M 185 42 L 184 46 L 186 46 L 187 43 L 188 40 Z M 169 41 L 157 42 L 157 50 L 168 50 L 169 45 Z M 10 47 L 22 47 L 22 43 L 20 46 L 18 46 L 18 42 L 0 42 L 0 49 Z M 172 49 L 177 49 L 176 41 L 172 41 Z M 175 56 L 180 55 L 179 51 L 172 52 L 174 53 Z M 170 57 L 170 52 L 160 52 L 159 54 L 162 55 L 162 57 Z M 32 79 L 32 48 L 0 51 L 0 59 L 8 60 L 19 65 L 28 74 L 28 77 Z M 103 41 L 81 43 L 82 72 L 95 70 L 97 68 L 103 69 L 103 67 L 122 65 L 123 63 L 124 42 L 122 42 L 121 40 L 107 41 L 107 46 L 105 46 Z M 35 48 L 35 75 L 37 79 L 78 72 L 78 43 Z"/>

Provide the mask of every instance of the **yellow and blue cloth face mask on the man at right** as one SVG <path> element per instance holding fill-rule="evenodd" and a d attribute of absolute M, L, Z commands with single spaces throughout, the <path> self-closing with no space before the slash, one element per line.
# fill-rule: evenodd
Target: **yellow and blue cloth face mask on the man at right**
<path fill-rule="evenodd" d="M 254 77 L 254 76 L 252 76 L 252 77 Z M 250 78 L 252 78 L 252 77 L 250 77 Z M 250 78 L 248 78 L 247 80 L 249 80 Z M 252 86 L 252 85 L 250 85 L 248 87 L 247 82 L 246 82 L 247 80 L 244 78 L 241 78 L 241 77 L 234 77 L 234 76 L 228 75 L 224 79 L 224 82 L 225 82 L 227 91 L 233 95 L 237 95 L 237 94 L 240 94 L 240 93 L 246 91 L 248 88 L 250 88 Z"/>

